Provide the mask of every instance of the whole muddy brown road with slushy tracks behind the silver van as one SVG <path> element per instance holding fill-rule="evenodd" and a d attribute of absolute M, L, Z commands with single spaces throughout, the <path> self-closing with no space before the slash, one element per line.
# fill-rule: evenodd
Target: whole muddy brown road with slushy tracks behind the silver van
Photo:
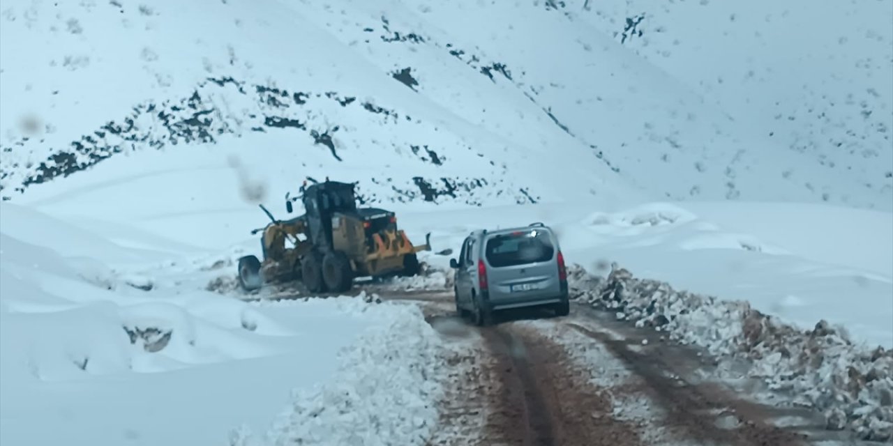
<path fill-rule="evenodd" d="M 513 310 L 477 327 L 455 315 L 449 292 L 361 289 L 367 301 L 419 305 L 446 341 L 447 397 L 430 446 L 856 444 L 825 431 L 819 414 L 760 405 L 746 384 L 711 379 L 704 352 L 584 305 L 565 318 Z"/>

